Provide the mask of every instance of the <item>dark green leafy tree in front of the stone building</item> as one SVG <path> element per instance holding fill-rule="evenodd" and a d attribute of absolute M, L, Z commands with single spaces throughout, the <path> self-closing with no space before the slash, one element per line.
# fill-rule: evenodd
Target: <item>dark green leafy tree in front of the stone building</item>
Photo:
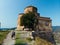
<path fill-rule="evenodd" d="M 26 13 L 21 17 L 21 25 L 24 25 L 25 28 L 34 29 L 36 17 L 32 12 Z"/>

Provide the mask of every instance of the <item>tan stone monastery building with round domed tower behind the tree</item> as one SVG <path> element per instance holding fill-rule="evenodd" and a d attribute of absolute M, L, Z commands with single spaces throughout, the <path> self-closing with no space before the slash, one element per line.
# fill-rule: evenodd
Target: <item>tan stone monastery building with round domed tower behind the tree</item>
<path fill-rule="evenodd" d="M 43 31 L 52 31 L 52 23 L 51 19 L 48 17 L 41 17 L 38 13 L 38 9 L 34 6 L 28 6 L 24 9 L 24 13 L 20 13 L 18 15 L 17 20 L 17 30 L 22 30 L 24 26 L 20 25 L 20 18 L 23 14 L 33 12 L 36 15 L 36 18 L 38 19 L 38 24 L 36 25 L 36 30 L 43 30 Z"/>

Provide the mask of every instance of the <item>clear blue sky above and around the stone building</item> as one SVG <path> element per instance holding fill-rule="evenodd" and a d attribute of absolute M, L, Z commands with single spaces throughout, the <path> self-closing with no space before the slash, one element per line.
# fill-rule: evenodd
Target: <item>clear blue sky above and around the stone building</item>
<path fill-rule="evenodd" d="M 29 5 L 37 7 L 41 16 L 50 17 L 53 26 L 60 26 L 60 0 L 0 0 L 1 27 L 16 27 L 18 14 Z"/>

